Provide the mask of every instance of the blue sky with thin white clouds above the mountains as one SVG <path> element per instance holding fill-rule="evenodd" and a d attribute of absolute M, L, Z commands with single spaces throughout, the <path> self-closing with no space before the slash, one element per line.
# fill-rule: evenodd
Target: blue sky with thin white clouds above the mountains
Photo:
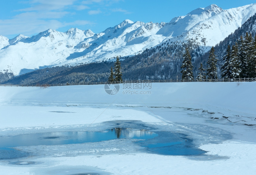
<path fill-rule="evenodd" d="M 230 9 L 252 3 L 255 0 L 9 0 L 1 2 L 0 35 L 11 39 L 49 28 L 65 32 L 71 27 L 99 33 L 125 19 L 169 22 L 210 4 Z"/>

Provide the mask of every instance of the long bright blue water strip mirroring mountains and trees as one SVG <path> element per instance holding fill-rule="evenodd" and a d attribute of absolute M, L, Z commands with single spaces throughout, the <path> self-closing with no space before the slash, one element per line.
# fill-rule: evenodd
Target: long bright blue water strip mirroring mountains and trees
<path fill-rule="evenodd" d="M 135 131 L 121 128 L 109 129 L 104 132 L 80 131 L 36 133 L 1 137 L 0 147 L 66 145 L 124 138 L 150 139 L 156 136 L 157 134 L 151 131 Z"/>

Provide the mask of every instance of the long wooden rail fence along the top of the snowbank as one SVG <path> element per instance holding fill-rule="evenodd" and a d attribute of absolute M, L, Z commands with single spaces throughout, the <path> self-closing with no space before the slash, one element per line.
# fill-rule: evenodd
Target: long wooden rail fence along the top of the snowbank
<path fill-rule="evenodd" d="M 203 80 L 129 80 L 123 81 L 123 83 L 173 83 L 173 82 L 252 82 L 256 81 L 256 78 L 228 78 L 228 79 L 203 79 Z M 97 84 L 109 84 L 108 82 L 86 82 L 86 83 L 66 83 L 66 84 L 0 84 L 0 86 L 22 86 L 22 87 L 49 87 L 49 86 L 71 86 L 71 85 L 97 85 Z"/>

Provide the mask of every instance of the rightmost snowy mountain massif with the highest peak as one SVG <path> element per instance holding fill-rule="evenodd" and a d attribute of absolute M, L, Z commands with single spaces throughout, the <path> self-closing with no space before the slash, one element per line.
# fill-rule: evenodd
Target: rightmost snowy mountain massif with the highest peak
<path fill-rule="evenodd" d="M 173 18 L 157 34 L 174 41 L 196 39 L 201 45 L 215 46 L 255 13 L 256 4 L 228 10 L 212 4 L 193 10 L 186 16 Z"/>

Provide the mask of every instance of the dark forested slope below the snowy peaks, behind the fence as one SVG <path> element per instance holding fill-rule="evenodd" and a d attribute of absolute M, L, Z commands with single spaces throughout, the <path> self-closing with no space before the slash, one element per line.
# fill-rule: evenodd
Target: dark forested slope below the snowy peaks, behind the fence
<path fill-rule="evenodd" d="M 244 37 L 246 35 L 246 32 L 255 36 L 256 14 L 250 17 L 241 28 L 235 30 L 234 33 L 214 47 L 215 55 L 218 58 L 218 78 L 221 78 L 220 71 L 221 66 L 224 64 L 223 56 L 226 55 L 227 46 L 234 45 L 240 39 L 240 36 Z M 199 45 L 194 45 L 193 40 L 181 45 L 176 42 L 166 41 L 135 56 L 120 57 L 123 80 L 170 80 L 181 77 L 182 54 L 186 48 L 190 50 L 193 75 L 196 77 L 201 63 L 206 68 L 209 52 L 205 54 L 199 53 Z M 109 77 L 110 67 L 113 66 L 114 62 L 110 60 L 77 66 L 56 66 L 38 69 L 16 77 L 13 77 L 11 73 L 5 73 L 4 75 L 0 73 L 0 83 L 26 85 L 105 82 Z"/>

